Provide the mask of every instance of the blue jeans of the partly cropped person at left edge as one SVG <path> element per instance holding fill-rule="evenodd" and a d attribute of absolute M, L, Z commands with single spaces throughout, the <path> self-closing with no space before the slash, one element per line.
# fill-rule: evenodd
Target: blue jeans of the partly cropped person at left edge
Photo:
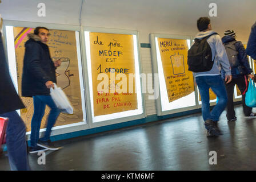
<path fill-rule="evenodd" d="M 6 129 L 6 147 L 12 171 L 30 170 L 27 160 L 26 127 L 16 111 L 0 114 L 9 118 Z"/>

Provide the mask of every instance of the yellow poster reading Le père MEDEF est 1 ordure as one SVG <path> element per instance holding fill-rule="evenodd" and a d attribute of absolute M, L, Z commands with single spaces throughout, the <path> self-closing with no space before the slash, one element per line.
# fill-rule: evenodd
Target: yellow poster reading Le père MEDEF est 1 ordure
<path fill-rule="evenodd" d="M 129 74 L 135 73 L 133 35 L 90 32 L 90 53 L 94 116 L 138 109 L 135 79 L 129 79 Z M 103 81 L 97 77 L 102 73 L 108 78 L 109 93 L 97 89 Z M 126 82 L 125 78 L 115 78 L 119 73 L 126 77 Z M 129 82 L 133 86 L 131 92 Z"/>

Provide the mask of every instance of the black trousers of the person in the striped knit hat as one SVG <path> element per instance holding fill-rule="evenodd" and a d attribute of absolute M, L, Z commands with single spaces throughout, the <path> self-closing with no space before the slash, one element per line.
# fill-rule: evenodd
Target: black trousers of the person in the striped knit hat
<path fill-rule="evenodd" d="M 248 87 L 248 81 L 246 76 L 232 78 L 232 81 L 229 84 L 225 84 L 226 90 L 227 90 L 227 107 L 226 107 L 227 119 L 233 119 L 235 117 L 234 101 L 233 101 L 235 84 L 237 84 L 240 92 L 242 93 L 243 113 L 245 114 L 245 116 L 249 116 L 252 110 L 251 107 L 248 107 L 245 104 L 245 93 Z"/>

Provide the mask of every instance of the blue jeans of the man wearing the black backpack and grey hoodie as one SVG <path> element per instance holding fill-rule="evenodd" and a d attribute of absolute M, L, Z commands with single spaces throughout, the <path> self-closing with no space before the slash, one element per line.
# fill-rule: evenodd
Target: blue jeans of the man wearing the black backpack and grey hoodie
<path fill-rule="evenodd" d="M 198 76 L 195 77 L 195 81 L 197 82 L 201 95 L 203 120 L 206 121 L 206 119 L 210 119 L 215 122 L 219 121 L 219 116 L 221 115 L 222 111 L 225 110 L 227 105 L 227 93 L 221 75 Z M 211 88 L 211 90 L 213 90 L 218 97 L 218 103 L 211 111 L 209 88 Z"/>

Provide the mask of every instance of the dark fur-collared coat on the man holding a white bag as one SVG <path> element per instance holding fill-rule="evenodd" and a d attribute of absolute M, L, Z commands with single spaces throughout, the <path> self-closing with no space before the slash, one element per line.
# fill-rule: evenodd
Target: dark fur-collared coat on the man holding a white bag
<path fill-rule="evenodd" d="M 25 43 L 22 73 L 22 96 L 32 97 L 50 95 L 50 89 L 45 85 L 47 81 L 56 82 L 55 67 L 51 60 L 49 47 L 41 42 L 35 34 L 27 35 L 30 39 Z"/>

